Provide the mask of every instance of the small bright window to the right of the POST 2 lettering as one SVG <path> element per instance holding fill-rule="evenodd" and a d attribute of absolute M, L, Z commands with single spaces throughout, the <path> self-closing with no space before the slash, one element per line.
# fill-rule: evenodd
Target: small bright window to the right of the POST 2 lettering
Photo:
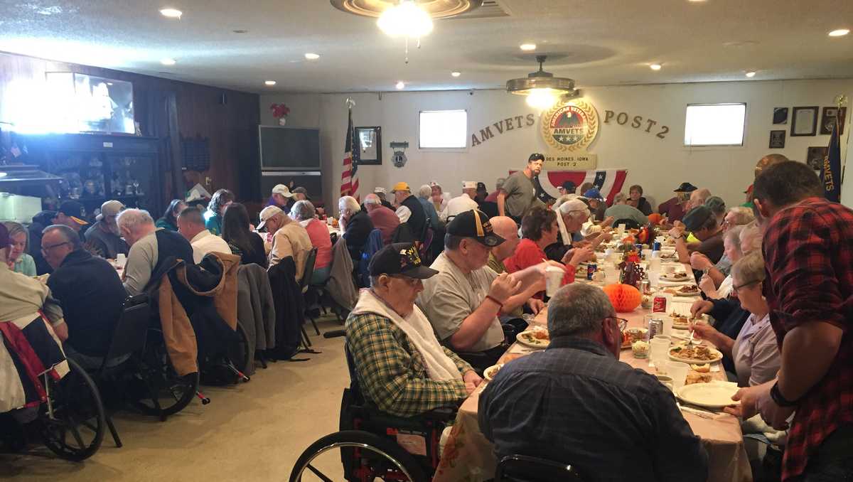
<path fill-rule="evenodd" d="M 685 146 L 742 146 L 746 104 L 688 104 Z"/>

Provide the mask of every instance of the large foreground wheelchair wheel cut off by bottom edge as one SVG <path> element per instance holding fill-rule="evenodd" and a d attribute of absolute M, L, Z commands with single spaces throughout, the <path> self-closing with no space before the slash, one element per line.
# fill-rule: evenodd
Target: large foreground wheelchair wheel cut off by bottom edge
<path fill-rule="evenodd" d="M 351 466 L 349 473 L 343 475 L 343 479 L 350 482 L 372 482 L 374 479 L 389 482 L 392 480 L 427 482 L 423 469 L 409 452 L 388 438 L 362 430 L 330 433 L 310 444 L 293 465 L 290 482 L 303 482 L 303 480 L 328 482 L 341 479 L 329 477 L 322 472 L 321 467 L 318 467 L 320 464 L 316 462 L 317 457 L 326 452 L 337 453 L 338 464 L 342 460 L 341 457 L 351 460 L 351 464 L 348 464 Z M 328 462 L 328 457 L 324 462 Z"/>

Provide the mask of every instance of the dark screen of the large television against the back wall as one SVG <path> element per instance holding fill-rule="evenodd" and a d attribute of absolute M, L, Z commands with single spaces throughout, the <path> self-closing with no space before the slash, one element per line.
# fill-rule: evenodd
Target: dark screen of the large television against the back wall
<path fill-rule="evenodd" d="M 320 171 L 320 131 L 258 125 L 261 171 Z"/>

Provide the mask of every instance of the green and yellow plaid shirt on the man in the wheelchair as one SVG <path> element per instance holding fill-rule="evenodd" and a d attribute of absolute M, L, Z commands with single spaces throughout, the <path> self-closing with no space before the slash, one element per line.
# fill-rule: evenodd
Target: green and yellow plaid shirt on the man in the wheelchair
<path fill-rule="evenodd" d="M 365 398 L 391 415 L 412 416 L 467 398 L 465 383 L 430 380 L 421 353 L 391 320 L 374 313 L 346 319 L 346 343 Z M 471 365 L 444 348 L 461 374 Z"/>

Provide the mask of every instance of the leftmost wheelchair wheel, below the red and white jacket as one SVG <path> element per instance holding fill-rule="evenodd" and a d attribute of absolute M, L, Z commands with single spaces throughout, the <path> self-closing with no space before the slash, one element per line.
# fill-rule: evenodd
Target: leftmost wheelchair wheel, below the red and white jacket
<path fill-rule="evenodd" d="M 48 377 L 48 401 L 39 408 L 38 423 L 48 449 L 80 462 L 101 448 L 107 420 L 95 382 L 70 358 L 68 365 L 71 371 L 61 380 Z"/>

